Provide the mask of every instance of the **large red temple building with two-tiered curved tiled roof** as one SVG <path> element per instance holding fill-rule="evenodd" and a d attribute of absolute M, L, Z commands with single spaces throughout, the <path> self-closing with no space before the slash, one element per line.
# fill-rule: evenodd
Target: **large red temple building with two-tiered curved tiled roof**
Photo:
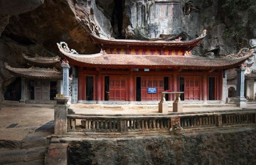
<path fill-rule="evenodd" d="M 78 54 L 65 42 L 57 45 L 61 56 L 76 68 L 78 102 L 159 101 L 166 90 L 184 92 L 185 101 L 223 102 L 225 70 L 239 68 L 248 56 L 193 56 L 192 48 L 205 36 L 206 30 L 193 40 L 122 40 L 92 34 L 102 49 L 98 54 Z"/>

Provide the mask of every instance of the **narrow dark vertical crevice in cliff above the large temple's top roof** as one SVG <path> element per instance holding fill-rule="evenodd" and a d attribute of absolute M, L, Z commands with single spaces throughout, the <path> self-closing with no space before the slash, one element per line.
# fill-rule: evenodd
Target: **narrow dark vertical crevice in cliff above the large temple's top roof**
<path fill-rule="evenodd" d="M 123 27 L 123 0 L 115 0 L 114 1 L 114 10 L 111 18 L 111 26 L 113 27 L 113 33 L 116 35 L 116 38 L 124 39 L 125 37 L 122 35 L 122 27 Z"/>

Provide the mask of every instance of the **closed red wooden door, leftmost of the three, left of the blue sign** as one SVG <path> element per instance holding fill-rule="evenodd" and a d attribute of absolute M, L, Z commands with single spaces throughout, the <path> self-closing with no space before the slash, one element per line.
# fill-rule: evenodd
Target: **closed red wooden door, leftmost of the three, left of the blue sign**
<path fill-rule="evenodd" d="M 109 101 L 126 101 L 125 76 L 109 76 Z"/>

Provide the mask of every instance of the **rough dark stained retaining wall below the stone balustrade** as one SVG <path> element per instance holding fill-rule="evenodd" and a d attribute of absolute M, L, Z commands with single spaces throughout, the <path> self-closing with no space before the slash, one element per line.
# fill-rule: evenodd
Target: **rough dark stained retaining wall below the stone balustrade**
<path fill-rule="evenodd" d="M 104 153 L 102 155 L 102 153 Z M 256 128 L 73 141 L 69 164 L 254 165 Z"/>

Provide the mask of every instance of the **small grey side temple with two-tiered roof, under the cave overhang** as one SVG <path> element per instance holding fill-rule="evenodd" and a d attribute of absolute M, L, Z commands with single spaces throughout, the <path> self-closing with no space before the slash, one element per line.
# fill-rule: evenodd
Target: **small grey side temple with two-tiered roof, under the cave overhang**
<path fill-rule="evenodd" d="M 16 77 L 21 78 L 21 99 L 25 103 L 54 103 L 53 97 L 61 92 L 62 71 L 55 66 L 59 57 L 29 57 L 22 54 L 30 68 L 5 67 Z"/>

